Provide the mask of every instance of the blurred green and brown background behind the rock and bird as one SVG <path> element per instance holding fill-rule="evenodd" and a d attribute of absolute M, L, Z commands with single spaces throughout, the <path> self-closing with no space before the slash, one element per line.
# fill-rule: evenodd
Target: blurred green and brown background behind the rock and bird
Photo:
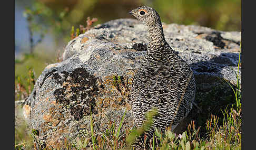
<path fill-rule="evenodd" d="M 15 0 L 15 83 L 29 84 L 29 69 L 36 79 L 49 63 L 60 61 L 72 26 L 86 27 L 88 16 L 97 18 L 93 26 L 134 18 L 127 13 L 142 5 L 155 8 L 168 24 L 241 31 L 240 0 Z"/>

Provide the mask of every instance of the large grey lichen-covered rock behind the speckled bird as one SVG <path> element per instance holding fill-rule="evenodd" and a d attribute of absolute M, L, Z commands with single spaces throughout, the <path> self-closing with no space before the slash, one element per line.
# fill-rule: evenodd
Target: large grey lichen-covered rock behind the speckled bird
<path fill-rule="evenodd" d="M 221 79 L 237 83 L 240 32 L 177 24 L 163 24 L 163 29 L 170 46 L 195 74 L 196 103 L 209 100 L 209 93 L 223 101 L 232 94 Z M 90 114 L 94 134 L 106 131 L 110 121 L 118 125 L 126 109 L 122 132 L 133 127 L 129 91 L 147 43 L 146 27 L 134 19 L 97 25 L 68 42 L 63 61 L 45 68 L 23 107 L 27 123 L 39 131 L 37 145 L 55 146 L 64 138 L 75 143 L 76 137 L 91 136 Z M 213 91 L 216 87 L 218 92 Z M 195 116 L 190 114 L 175 132 Z"/>

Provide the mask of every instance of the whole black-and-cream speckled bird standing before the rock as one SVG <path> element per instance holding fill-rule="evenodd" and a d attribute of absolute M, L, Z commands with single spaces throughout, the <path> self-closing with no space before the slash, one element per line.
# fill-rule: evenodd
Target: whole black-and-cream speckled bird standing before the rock
<path fill-rule="evenodd" d="M 137 127 L 143 124 L 147 112 L 157 109 L 159 115 L 145 132 L 151 138 L 155 127 L 164 131 L 171 125 L 173 130 L 188 115 L 196 85 L 189 65 L 166 42 L 159 14 L 146 6 L 136 8 L 130 14 L 148 27 L 149 45 L 133 78 L 131 106 Z M 134 145 L 142 146 L 140 140 Z"/>

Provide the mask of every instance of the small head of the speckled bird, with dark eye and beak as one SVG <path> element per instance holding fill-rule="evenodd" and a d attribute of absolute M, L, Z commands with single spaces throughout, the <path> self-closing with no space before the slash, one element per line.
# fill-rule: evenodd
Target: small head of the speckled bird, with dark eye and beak
<path fill-rule="evenodd" d="M 129 14 L 136 17 L 142 24 L 148 27 L 160 21 L 160 16 L 157 14 L 156 10 L 148 6 L 133 9 Z"/>

